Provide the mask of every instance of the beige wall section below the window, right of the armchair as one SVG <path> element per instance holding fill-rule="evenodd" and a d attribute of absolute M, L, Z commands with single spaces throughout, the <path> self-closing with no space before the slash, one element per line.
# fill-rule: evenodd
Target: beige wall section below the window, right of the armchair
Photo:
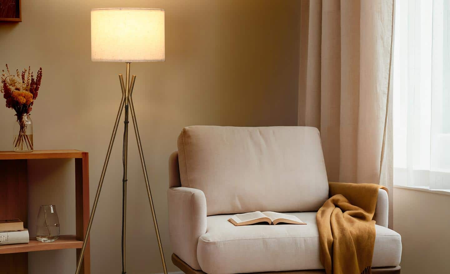
<path fill-rule="evenodd" d="M 450 196 L 394 189 L 394 230 L 401 234 L 401 272 L 449 273 Z"/>

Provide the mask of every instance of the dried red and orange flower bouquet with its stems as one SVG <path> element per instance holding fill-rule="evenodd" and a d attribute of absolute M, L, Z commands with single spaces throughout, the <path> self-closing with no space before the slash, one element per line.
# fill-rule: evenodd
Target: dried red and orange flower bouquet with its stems
<path fill-rule="evenodd" d="M 8 64 L 6 72 L 2 70 L 0 91 L 6 99 L 6 107 L 16 111 L 19 132 L 14 139 L 14 150 L 33 150 L 32 136 L 27 134 L 27 125 L 31 124 L 29 118 L 31 107 L 40 87 L 42 80 L 42 68 L 37 71 L 36 79 L 30 67 L 23 69 L 22 73 L 16 70 L 16 74 L 11 74 Z"/>

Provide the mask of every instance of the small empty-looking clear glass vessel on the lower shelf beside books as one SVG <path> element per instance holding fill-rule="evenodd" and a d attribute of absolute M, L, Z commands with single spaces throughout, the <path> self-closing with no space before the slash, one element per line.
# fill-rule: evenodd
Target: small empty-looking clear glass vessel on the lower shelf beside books
<path fill-rule="evenodd" d="M 36 240 L 43 243 L 54 242 L 59 238 L 59 219 L 56 206 L 41 205 L 37 215 Z"/>

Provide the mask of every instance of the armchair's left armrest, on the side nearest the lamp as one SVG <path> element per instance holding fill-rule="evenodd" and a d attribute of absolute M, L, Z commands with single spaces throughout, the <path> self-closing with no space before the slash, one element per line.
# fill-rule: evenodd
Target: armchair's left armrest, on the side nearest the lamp
<path fill-rule="evenodd" d="M 198 238 L 206 233 L 206 198 L 202 190 L 172 187 L 167 190 L 169 237 L 173 252 L 193 269 L 197 260 Z"/>

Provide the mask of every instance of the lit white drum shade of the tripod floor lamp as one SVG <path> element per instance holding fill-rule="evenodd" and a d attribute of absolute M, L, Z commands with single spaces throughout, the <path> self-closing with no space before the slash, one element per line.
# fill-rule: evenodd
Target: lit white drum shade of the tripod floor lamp
<path fill-rule="evenodd" d="M 92 9 L 91 59 L 164 61 L 164 9 Z"/>

